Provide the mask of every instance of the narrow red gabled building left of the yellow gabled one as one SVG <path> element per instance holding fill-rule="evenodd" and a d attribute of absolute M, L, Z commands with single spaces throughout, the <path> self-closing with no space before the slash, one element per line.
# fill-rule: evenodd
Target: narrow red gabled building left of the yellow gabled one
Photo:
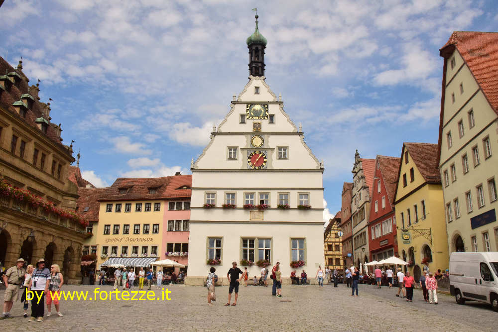
<path fill-rule="evenodd" d="M 398 256 L 394 194 L 400 159 L 377 155 L 375 161 L 369 247 L 370 260 L 380 261 L 387 257 Z"/>

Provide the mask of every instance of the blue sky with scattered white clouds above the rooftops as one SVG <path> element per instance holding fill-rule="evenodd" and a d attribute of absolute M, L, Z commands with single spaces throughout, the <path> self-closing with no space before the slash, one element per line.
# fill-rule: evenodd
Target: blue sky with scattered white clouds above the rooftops
<path fill-rule="evenodd" d="M 325 161 L 325 214 L 340 210 L 355 149 L 437 143 L 439 48 L 454 30 L 498 30 L 493 0 L 6 0 L 0 56 L 41 80 L 96 186 L 189 174 L 248 81 L 256 6 L 266 82 Z"/>

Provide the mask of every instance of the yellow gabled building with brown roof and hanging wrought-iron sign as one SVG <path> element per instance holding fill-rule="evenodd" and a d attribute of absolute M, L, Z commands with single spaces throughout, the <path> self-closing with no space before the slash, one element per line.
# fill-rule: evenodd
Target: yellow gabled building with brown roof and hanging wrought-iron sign
<path fill-rule="evenodd" d="M 430 271 L 448 268 L 449 253 L 438 145 L 404 143 L 394 196 L 398 251 L 415 280 L 426 260 Z"/>

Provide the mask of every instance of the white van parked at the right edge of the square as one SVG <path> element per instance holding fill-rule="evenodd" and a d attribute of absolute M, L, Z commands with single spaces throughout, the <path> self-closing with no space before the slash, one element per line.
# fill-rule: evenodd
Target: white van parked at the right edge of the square
<path fill-rule="evenodd" d="M 458 304 L 485 302 L 498 311 L 498 252 L 452 252 L 450 293 Z"/>

